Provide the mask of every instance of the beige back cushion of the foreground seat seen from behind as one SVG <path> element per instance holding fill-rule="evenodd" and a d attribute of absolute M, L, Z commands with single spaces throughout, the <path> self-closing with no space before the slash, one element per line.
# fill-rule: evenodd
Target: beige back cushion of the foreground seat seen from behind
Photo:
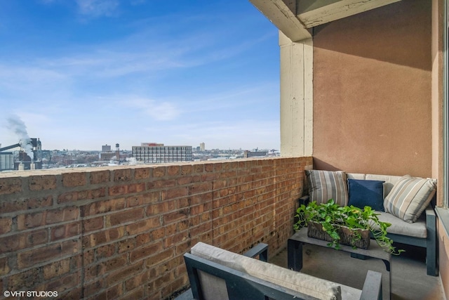
<path fill-rule="evenodd" d="M 282 287 L 292 289 L 302 294 L 313 296 L 317 299 L 342 299 L 340 285 L 328 280 L 298 273 L 257 259 L 251 259 L 250 257 L 229 252 L 225 249 L 204 244 L 203 242 L 195 244 L 190 252 L 203 259 L 220 263 L 223 266 L 239 270 L 240 272 L 247 273 L 256 278 L 272 282 L 276 285 L 281 285 Z M 220 278 L 217 279 L 220 280 Z M 216 296 L 215 299 L 217 299 Z"/>

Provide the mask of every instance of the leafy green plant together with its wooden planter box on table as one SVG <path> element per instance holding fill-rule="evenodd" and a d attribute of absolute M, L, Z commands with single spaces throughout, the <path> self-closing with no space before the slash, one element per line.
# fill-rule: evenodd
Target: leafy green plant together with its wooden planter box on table
<path fill-rule="evenodd" d="M 370 234 L 377 244 L 391 254 L 400 254 L 403 250 L 396 250 L 393 240 L 387 237 L 390 223 L 379 221 L 378 214 L 371 207 L 360 209 L 354 206 L 340 207 L 333 199 L 327 203 L 302 204 L 297 209 L 295 230 L 307 226 L 309 237 L 319 238 L 330 242 L 329 247 L 340 249 L 340 244 L 367 249 Z"/>

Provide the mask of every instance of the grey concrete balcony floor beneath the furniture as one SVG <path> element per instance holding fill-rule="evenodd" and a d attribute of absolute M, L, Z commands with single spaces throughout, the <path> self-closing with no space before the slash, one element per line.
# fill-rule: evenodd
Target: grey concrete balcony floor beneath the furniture
<path fill-rule="evenodd" d="M 371 242 L 374 242 L 373 240 Z M 398 244 L 406 252 L 391 261 L 391 300 L 444 300 L 441 278 L 426 274 L 425 252 L 419 247 Z M 287 249 L 269 260 L 287 267 Z M 335 249 L 304 244 L 302 273 L 325 278 L 343 285 L 361 289 L 368 270 L 382 273 L 383 299 L 389 297 L 389 273 L 380 259 L 353 259 L 349 253 Z"/>

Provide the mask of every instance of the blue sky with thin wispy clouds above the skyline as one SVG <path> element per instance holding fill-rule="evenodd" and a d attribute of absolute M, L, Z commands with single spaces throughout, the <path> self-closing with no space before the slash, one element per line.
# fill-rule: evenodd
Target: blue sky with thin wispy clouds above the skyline
<path fill-rule="evenodd" d="M 0 99 L 3 147 L 279 149 L 278 31 L 248 0 L 3 0 Z"/>

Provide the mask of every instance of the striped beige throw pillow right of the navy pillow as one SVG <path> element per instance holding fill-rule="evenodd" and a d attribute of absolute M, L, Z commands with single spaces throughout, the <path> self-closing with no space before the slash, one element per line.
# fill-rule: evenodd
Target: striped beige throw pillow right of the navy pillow
<path fill-rule="evenodd" d="M 420 218 L 436 193 L 436 179 L 401 177 L 385 197 L 384 209 L 408 223 Z"/>

